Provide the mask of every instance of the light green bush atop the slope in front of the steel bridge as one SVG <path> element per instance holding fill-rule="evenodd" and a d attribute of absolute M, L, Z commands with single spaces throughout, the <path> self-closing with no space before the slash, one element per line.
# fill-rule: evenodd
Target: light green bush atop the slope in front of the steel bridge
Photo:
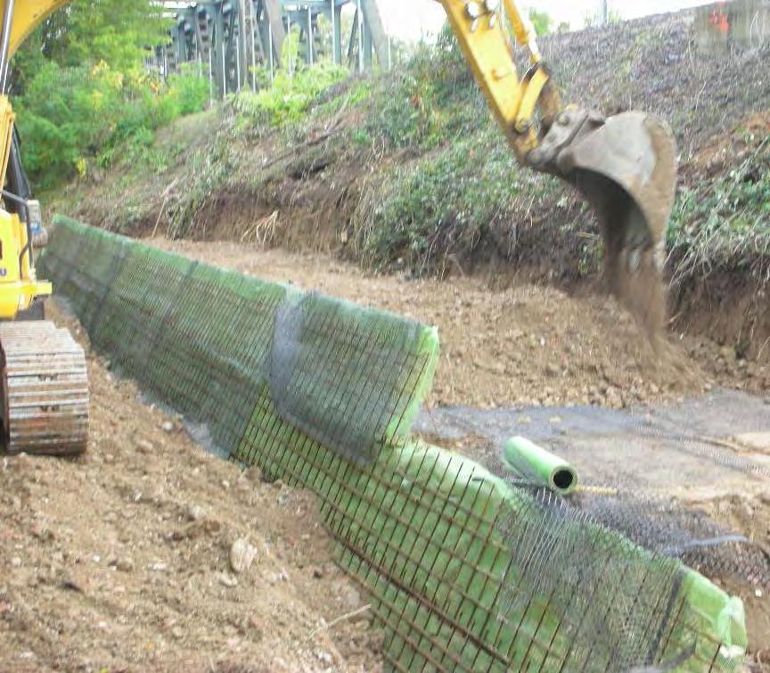
<path fill-rule="evenodd" d="M 272 86 L 256 94 L 246 91 L 233 97 L 239 128 L 264 130 L 297 122 L 324 90 L 347 77 L 348 70 L 327 62 L 295 70 L 293 76 L 279 70 Z"/>

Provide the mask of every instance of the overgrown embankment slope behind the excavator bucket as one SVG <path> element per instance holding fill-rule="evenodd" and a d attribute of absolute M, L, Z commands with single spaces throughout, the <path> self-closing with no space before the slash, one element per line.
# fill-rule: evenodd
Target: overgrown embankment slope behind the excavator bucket
<path fill-rule="evenodd" d="M 685 12 L 552 37 L 544 52 L 570 100 L 656 112 L 675 128 L 668 242 L 683 296 L 715 270 L 764 285 L 770 79 L 759 75 L 770 46 L 710 53 Z M 333 249 L 410 274 L 502 262 L 571 281 L 599 268 L 592 215 L 558 181 L 516 166 L 451 39 L 391 75 L 333 86 L 299 120 L 269 117 L 243 96 L 169 129 L 147 165 L 54 203 L 129 233 Z"/>

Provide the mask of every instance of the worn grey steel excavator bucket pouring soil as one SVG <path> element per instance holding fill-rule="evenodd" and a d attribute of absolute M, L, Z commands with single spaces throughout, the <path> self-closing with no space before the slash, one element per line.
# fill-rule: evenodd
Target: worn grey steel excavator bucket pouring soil
<path fill-rule="evenodd" d="M 594 207 L 610 291 L 650 331 L 665 317 L 661 271 L 676 193 L 676 141 L 668 124 L 631 111 L 602 119 L 559 154 L 561 176 Z"/>

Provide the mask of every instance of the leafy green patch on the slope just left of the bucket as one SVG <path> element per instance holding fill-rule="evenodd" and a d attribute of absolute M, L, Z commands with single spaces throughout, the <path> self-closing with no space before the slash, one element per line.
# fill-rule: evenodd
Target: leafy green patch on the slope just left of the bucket
<path fill-rule="evenodd" d="M 496 239 L 510 228 L 520 193 L 533 198 L 544 184 L 520 175 L 504 139 L 491 131 L 396 168 L 386 183 L 359 208 L 358 248 L 373 267 L 419 274 L 440 273 L 448 255 Z"/>

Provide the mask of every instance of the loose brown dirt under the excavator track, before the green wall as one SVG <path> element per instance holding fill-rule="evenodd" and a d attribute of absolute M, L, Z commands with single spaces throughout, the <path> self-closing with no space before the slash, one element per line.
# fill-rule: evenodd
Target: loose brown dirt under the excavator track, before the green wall
<path fill-rule="evenodd" d="M 0 457 L 0 670 L 380 669 L 314 497 L 207 456 L 88 359 L 87 455 Z"/>

